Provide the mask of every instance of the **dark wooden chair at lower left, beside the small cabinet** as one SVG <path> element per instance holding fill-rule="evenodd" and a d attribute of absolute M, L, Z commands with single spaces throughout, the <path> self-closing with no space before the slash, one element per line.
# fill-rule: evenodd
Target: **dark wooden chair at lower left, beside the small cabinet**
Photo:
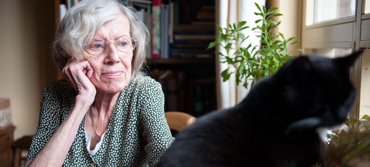
<path fill-rule="evenodd" d="M 31 136 L 23 136 L 14 141 L 12 147 L 14 148 L 14 167 L 19 167 L 21 161 L 25 161 L 26 157 L 21 156 L 22 150 L 29 150 L 31 146 Z"/>

